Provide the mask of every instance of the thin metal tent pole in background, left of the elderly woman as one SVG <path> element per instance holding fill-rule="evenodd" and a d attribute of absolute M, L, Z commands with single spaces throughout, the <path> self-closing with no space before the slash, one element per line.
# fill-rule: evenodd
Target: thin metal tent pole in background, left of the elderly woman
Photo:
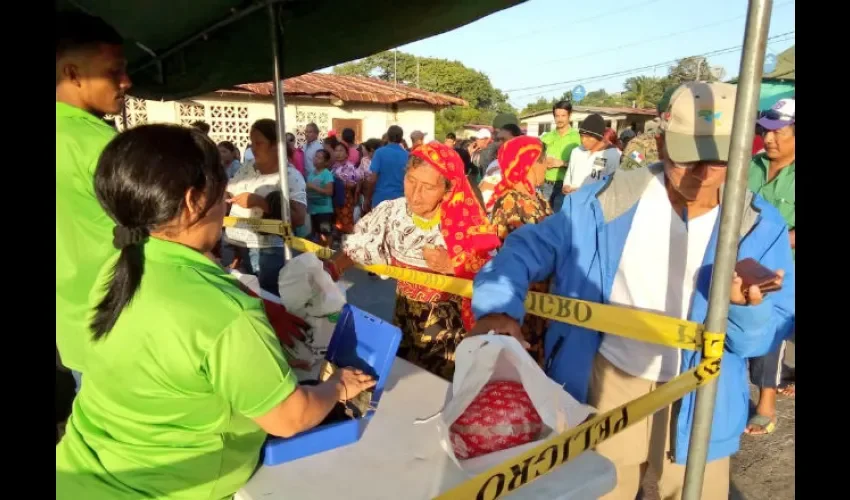
<path fill-rule="evenodd" d="M 285 100 L 283 98 L 283 76 L 281 67 L 283 66 L 283 25 L 278 23 L 278 13 L 280 7 L 270 3 L 268 5 L 269 27 L 271 29 L 272 56 L 274 58 L 274 110 L 277 124 L 277 161 L 278 173 L 280 174 L 280 190 L 281 190 L 281 220 L 284 224 L 289 224 L 289 180 L 287 179 L 287 165 L 289 159 L 286 157 L 286 125 L 285 125 Z M 294 228 L 293 228 L 294 229 Z M 288 261 L 292 258 L 292 250 L 289 244 L 284 239 L 283 256 Z"/>

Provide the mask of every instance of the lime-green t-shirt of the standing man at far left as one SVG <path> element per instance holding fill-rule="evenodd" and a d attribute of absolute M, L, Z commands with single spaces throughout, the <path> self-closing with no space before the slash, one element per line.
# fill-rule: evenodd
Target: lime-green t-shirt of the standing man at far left
<path fill-rule="evenodd" d="M 56 346 L 65 366 L 85 371 L 91 292 L 116 250 L 115 225 L 94 195 L 94 170 L 115 129 L 56 103 Z"/>

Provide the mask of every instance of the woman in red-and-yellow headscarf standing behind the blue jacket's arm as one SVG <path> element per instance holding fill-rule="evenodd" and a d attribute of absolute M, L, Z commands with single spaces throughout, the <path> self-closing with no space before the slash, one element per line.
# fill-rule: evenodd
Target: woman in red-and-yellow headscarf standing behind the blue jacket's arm
<path fill-rule="evenodd" d="M 537 192 L 546 175 L 546 155 L 543 143 L 535 137 L 513 138 L 499 148 L 502 180 L 493 189 L 487 203 L 490 219 L 502 241 L 525 224 L 537 224 L 552 215 L 546 198 Z M 535 292 L 548 292 L 548 283 L 535 283 Z M 522 324 L 525 339 L 531 344 L 529 352 L 543 363 L 543 335 L 547 320 L 527 315 Z"/>

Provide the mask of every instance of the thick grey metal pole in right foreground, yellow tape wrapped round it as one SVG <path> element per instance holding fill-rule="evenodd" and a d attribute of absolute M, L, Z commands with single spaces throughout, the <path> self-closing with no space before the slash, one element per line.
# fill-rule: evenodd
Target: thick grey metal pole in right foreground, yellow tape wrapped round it
<path fill-rule="evenodd" d="M 750 0 L 747 11 L 735 116 L 732 122 L 729 166 L 720 213 L 717 255 L 714 259 L 705 322 L 706 331 L 709 332 L 726 331 L 729 290 L 738 257 L 741 216 L 744 209 L 744 194 L 747 190 L 747 170 L 752 156 L 753 134 L 772 7 L 773 0 Z M 699 500 L 702 495 L 716 396 L 716 378 L 697 389 L 694 423 L 685 469 L 685 485 L 682 490 L 683 500 Z"/>

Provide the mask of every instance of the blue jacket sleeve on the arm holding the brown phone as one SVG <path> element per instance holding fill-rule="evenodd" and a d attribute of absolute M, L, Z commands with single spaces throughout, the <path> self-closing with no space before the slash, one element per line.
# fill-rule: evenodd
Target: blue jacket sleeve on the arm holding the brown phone
<path fill-rule="evenodd" d="M 782 269 L 782 288 L 768 293 L 757 306 L 729 306 L 726 348 L 744 358 L 763 356 L 783 340 L 794 328 L 796 273 L 791 256 L 791 243 L 784 225 L 774 232 L 772 241 L 761 258 L 770 269 Z"/>

